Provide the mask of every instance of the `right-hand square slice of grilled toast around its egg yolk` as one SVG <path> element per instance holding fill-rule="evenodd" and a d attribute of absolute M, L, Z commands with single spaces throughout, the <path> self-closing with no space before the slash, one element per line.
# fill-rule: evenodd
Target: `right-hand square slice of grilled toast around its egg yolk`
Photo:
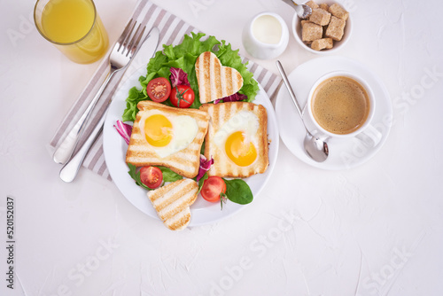
<path fill-rule="evenodd" d="M 211 117 L 206 134 L 205 156 L 208 160 L 213 158 L 214 165 L 208 175 L 248 177 L 266 171 L 269 160 L 268 114 L 265 107 L 246 102 L 228 102 L 205 104 L 200 110 L 206 111 Z M 255 147 L 256 158 L 249 165 L 237 165 L 226 152 L 226 141 L 236 131 L 244 135 L 253 133 L 248 138 Z"/>

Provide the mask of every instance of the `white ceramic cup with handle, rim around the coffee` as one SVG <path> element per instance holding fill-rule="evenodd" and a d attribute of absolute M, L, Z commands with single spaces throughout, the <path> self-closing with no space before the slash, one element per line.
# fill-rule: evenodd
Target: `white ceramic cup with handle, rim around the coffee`
<path fill-rule="evenodd" d="M 323 129 L 323 127 L 315 120 L 315 116 L 313 113 L 313 100 L 314 100 L 315 90 L 322 82 L 336 76 L 344 76 L 354 80 L 355 82 L 358 82 L 361 85 L 361 87 L 364 90 L 366 90 L 366 93 L 368 94 L 369 98 L 369 112 L 366 121 L 364 121 L 358 129 L 348 134 L 338 134 Z M 352 137 L 356 137 L 368 147 L 376 146 L 380 142 L 382 134 L 370 124 L 370 122 L 374 117 L 375 110 L 376 110 L 376 100 L 369 84 L 365 82 L 363 79 L 361 79 L 361 77 L 344 71 L 334 71 L 320 77 L 312 86 L 311 90 L 309 91 L 309 96 L 307 97 L 307 116 L 309 121 L 312 121 L 313 125 L 315 126 L 315 129 L 312 130 L 312 133 L 314 136 L 326 140 L 328 138 L 339 140 L 339 139 L 349 139 Z"/>

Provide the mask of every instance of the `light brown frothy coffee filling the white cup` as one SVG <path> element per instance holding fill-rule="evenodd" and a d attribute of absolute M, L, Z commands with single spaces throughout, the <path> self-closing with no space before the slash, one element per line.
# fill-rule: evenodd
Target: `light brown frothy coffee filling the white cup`
<path fill-rule="evenodd" d="M 368 119 L 369 96 L 352 78 L 330 77 L 315 89 L 311 108 L 315 121 L 323 129 L 346 135 L 360 129 Z"/>

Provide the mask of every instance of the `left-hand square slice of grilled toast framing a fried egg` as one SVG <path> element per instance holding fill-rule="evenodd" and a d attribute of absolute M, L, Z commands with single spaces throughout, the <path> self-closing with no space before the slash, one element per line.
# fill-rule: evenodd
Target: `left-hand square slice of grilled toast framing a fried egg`
<path fill-rule="evenodd" d="M 198 109 L 181 109 L 175 107 L 169 107 L 167 105 L 162 105 L 152 101 L 142 101 L 137 105 L 140 110 L 136 115 L 136 121 L 134 121 L 134 126 L 132 128 L 132 134 L 128 144 L 128 151 L 126 153 L 126 162 L 135 165 L 136 167 L 144 166 L 164 166 L 169 167 L 175 173 L 183 175 L 188 178 L 193 178 L 198 175 L 198 167 L 200 164 L 200 148 L 203 140 L 205 139 L 209 115 L 205 111 Z M 187 115 L 197 122 L 197 125 L 193 123 L 192 129 L 196 133 L 196 136 L 190 142 L 190 138 L 187 140 L 190 142 L 187 146 L 179 151 L 172 152 L 166 155 L 167 149 L 176 150 L 175 140 L 183 136 L 183 132 L 177 132 L 178 135 L 173 135 L 171 142 L 165 147 L 154 147 L 149 144 L 146 140 L 144 132 L 144 121 L 146 117 L 151 116 L 149 114 L 159 113 L 171 120 L 182 116 L 181 118 L 190 119 L 188 117 L 183 117 Z M 191 120 L 192 121 L 192 120 Z M 186 131 L 185 125 L 176 124 L 181 130 Z M 174 125 L 173 125 L 174 127 Z M 177 129 L 178 129 L 177 128 Z M 174 129 L 176 129 L 174 127 Z M 181 140 L 182 141 L 182 140 Z M 185 142 L 184 140 L 181 142 Z M 187 142 L 185 142 L 187 143 Z"/>

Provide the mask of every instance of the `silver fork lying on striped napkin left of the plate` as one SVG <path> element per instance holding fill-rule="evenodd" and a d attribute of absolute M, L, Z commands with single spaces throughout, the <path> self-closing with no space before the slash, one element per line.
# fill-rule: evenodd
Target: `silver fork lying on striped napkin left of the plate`
<path fill-rule="evenodd" d="M 134 30 L 136 31 L 134 33 Z M 100 89 L 97 90 L 97 94 L 92 98 L 88 107 L 82 114 L 82 117 L 74 124 L 74 127 L 69 131 L 66 138 L 61 144 L 58 145 L 53 155 L 53 160 L 57 163 L 65 164 L 71 159 L 75 147 L 77 146 L 79 139 L 82 137 L 86 122 L 89 120 L 92 110 L 97 105 L 98 99 L 102 96 L 103 91 L 106 89 L 108 83 L 113 78 L 113 75 L 122 69 L 125 69 L 131 58 L 134 57 L 140 40 L 144 35 L 146 26 L 142 28 L 142 24 L 138 23 L 134 19 L 129 19 L 127 26 L 121 33 L 119 40 L 114 44 L 113 51 L 109 55 L 110 71 L 107 74 L 105 82 L 102 83 Z M 134 33 L 134 34 L 133 34 Z M 131 35 L 132 38 L 131 38 Z"/>

